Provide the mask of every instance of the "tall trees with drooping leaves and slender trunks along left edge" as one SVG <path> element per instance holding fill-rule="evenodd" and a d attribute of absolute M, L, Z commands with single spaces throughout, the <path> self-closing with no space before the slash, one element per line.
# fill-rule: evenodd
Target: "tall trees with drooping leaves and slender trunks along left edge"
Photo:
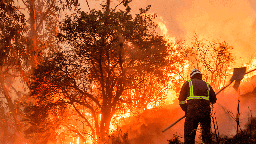
<path fill-rule="evenodd" d="M 1 125 L 5 125 L 1 142 L 24 140 L 26 123 L 21 104 L 28 100 L 32 69 L 43 54 L 59 48 L 56 33 L 60 11 L 72 6 L 79 7 L 78 1 L 0 1 L 0 103 Z"/>

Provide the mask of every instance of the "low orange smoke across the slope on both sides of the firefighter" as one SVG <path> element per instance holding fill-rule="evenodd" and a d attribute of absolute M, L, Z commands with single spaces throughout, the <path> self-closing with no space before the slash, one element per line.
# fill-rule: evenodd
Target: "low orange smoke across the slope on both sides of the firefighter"
<path fill-rule="evenodd" d="M 247 123 L 251 118 L 250 110 L 252 110 L 252 116 L 256 116 L 256 88 L 253 86 L 255 83 L 256 77 L 250 82 L 240 84 L 239 108 L 242 130 L 247 129 Z M 235 91 L 233 87 L 227 87 L 217 95 L 213 112 L 215 112 L 214 117 L 216 117 L 220 135 L 234 136 L 236 134 L 236 122 L 227 111 L 231 111 L 236 116 L 238 96 L 239 92 Z M 174 134 L 183 137 L 185 118 L 164 133 L 161 131 L 184 114 L 176 100 L 173 104 L 166 105 L 165 108 L 148 109 L 137 117 L 127 118 L 121 129 L 123 132 L 128 131 L 131 144 L 167 144 L 167 140 L 172 139 Z M 212 131 L 214 131 L 213 126 Z M 200 141 L 199 135 L 198 130 L 196 141 Z M 179 139 L 184 141 L 183 138 Z"/>

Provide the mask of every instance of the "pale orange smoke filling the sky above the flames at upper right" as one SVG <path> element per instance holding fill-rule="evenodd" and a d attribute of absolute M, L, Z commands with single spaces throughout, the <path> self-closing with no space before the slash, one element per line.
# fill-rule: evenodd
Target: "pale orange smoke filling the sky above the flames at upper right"
<path fill-rule="evenodd" d="M 167 22 L 170 36 L 190 38 L 197 33 L 205 38 L 218 37 L 233 46 L 238 65 L 256 52 L 255 0 L 140 0 L 133 2 L 132 9 L 146 5 L 152 5 L 150 13 Z"/>

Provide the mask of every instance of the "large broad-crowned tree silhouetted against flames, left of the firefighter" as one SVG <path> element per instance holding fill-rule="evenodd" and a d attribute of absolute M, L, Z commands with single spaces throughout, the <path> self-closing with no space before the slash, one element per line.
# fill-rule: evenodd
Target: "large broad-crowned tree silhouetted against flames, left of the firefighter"
<path fill-rule="evenodd" d="M 61 51 L 34 71 L 30 88 L 37 102 L 28 114 L 44 117 L 41 123 L 30 119 L 34 127 L 61 121 L 53 129 L 59 137 L 71 132 L 83 141 L 104 141 L 116 115 L 164 99 L 179 57 L 177 46 L 155 31 L 149 8 L 134 18 L 128 6 L 108 15 L 102 9 L 66 17 L 58 35 Z"/>

